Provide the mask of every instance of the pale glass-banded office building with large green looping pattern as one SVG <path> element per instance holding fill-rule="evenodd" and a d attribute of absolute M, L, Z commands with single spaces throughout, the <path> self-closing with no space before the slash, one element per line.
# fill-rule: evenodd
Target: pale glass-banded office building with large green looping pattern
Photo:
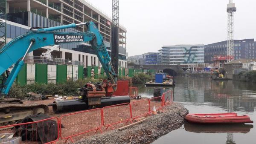
<path fill-rule="evenodd" d="M 163 46 L 157 64 L 204 63 L 204 45 Z"/>

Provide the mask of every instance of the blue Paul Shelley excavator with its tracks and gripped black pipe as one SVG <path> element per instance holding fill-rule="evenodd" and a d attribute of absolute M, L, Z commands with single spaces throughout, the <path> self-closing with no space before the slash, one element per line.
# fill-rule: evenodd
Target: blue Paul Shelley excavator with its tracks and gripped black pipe
<path fill-rule="evenodd" d="M 63 32 L 64 29 L 85 25 L 87 32 Z M 117 74 L 111 64 L 111 58 L 103 42 L 103 37 L 93 22 L 69 24 L 50 28 L 32 27 L 28 32 L 15 37 L 0 49 L 0 91 L 3 97 L 8 97 L 9 90 L 15 81 L 20 69 L 24 65 L 24 58 L 29 53 L 44 46 L 59 45 L 64 43 L 89 42 L 99 58 L 108 80 L 96 84 L 85 84 L 80 88 L 79 100 L 55 101 L 52 106 L 55 112 L 67 110 L 91 109 L 106 105 L 130 102 L 127 96 L 112 97 L 116 90 Z M 12 67 L 9 72 L 9 68 Z M 12 124 L 28 115 L 39 112 L 48 112 L 49 108 L 43 104 L 23 104 L 16 98 L 0 99 L 0 125 Z"/>

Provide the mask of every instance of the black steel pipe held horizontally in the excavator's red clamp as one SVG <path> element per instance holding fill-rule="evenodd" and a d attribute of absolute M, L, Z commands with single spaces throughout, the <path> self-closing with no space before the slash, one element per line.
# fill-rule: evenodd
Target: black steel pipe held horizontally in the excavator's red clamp
<path fill-rule="evenodd" d="M 115 97 L 104 97 L 101 99 L 101 105 L 98 107 L 106 107 L 115 104 L 130 103 L 129 96 L 115 96 Z M 54 112 L 67 112 L 67 111 L 78 111 L 88 109 L 87 100 L 68 100 L 68 101 L 55 101 L 52 106 Z"/>

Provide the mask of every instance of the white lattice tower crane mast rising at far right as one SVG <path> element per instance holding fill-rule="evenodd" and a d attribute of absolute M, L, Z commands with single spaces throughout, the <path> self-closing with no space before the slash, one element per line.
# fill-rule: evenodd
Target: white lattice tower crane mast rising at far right
<path fill-rule="evenodd" d="M 227 57 L 232 58 L 227 59 L 227 62 L 234 59 L 234 12 L 236 12 L 235 3 L 229 0 L 227 4 Z"/>

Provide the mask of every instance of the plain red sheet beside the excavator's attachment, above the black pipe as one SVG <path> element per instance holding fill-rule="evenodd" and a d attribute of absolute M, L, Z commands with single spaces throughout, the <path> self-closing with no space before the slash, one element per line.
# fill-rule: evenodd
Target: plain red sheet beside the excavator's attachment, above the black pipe
<path fill-rule="evenodd" d="M 117 89 L 113 92 L 112 96 L 122 96 L 129 95 L 129 81 L 128 80 L 119 80 L 117 81 Z"/>

